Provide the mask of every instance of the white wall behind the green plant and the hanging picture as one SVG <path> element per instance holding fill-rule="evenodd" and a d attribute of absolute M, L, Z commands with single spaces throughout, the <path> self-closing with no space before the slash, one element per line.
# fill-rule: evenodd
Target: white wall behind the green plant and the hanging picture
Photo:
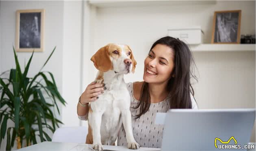
<path fill-rule="evenodd" d="M 12 46 L 15 44 L 16 31 L 16 11 L 20 9 L 45 9 L 45 34 L 44 34 L 44 51 L 35 52 L 33 60 L 30 64 L 28 77 L 33 77 L 56 46 L 56 50 L 52 55 L 48 64 L 43 71 L 50 71 L 54 75 L 57 87 L 62 94 L 63 89 L 63 9 L 64 2 L 52 1 L 1 1 L 0 2 L 0 72 L 15 68 Z M 31 53 L 17 52 L 22 71 L 24 71 L 24 62 L 29 60 Z M 65 99 L 65 98 L 64 98 Z M 62 110 L 61 105 L 60 112 Z M 61 115 L 56 117 L 61 119 Z M 13 126 L 9 122 L 7 126 Z M 50 137 L 52 134 L 49 134 Z M 6 136 L 5 136 L 6 138 Z M 1 150 L 5 150 L 5 142 L 3 141 Z M 14 147 L 15 149 L 15 147 Z"/>

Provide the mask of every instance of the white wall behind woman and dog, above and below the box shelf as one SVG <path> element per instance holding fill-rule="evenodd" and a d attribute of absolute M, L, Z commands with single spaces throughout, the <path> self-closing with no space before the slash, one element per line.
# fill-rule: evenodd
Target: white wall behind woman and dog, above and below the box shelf
<path fill-rule="evenodd" d="M 203 43 L 210 43 L 214 11 L 242 10 L 241 34 L 255 34 L 255 1 L 216 4 L 98 8 L 93 51 L 107 43 L 130 45 L 137 68 L 125 76 L 143 80 L 143 62 L 158 38 L 171 27 L 201 26 Z M 199 82 L 194 85 L 199 108 L 255 108 L 254 52 L 194 52 Z M 255 142 L 255 128 L 251 141 Z"/>

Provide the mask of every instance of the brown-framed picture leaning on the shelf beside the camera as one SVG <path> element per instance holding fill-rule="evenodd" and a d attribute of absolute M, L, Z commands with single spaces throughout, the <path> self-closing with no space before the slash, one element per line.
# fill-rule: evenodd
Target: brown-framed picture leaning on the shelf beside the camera
<path fill-rule="evenodd" d="M 241 10 L 215 11 L 211 43 L 240 43 Z"/>

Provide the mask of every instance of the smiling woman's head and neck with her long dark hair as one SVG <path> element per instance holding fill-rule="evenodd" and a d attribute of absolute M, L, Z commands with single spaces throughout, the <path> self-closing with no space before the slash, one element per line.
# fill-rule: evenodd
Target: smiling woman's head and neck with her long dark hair
<path fill-rule="evenodd" d="M 179 39 L 163 37 L 151 47 L 144 61 L 143 80 L 140 93 L 135 94 L 140 108 L 136 118 L 145 114 L 151 103 L 169 100 L 169 108 L 193 108 L 193 87 L 191 78 L 197 80 L 191 71 L 194 60 L 189 47 Z M 135 93 L 135 92 L 134 92 Z"/>

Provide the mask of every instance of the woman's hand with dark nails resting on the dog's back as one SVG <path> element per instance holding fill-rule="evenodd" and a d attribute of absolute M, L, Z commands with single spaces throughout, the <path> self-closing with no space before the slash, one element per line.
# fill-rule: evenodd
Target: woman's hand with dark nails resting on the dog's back
<path fill-rule="evenodd" d="M 98 95 L 102 94 L 104 92 L 104 89 L 106 89 L 106 87 L 104 86 L 104 83 L 90 83 L 80 96 L 80 103 L 87 104 L 89 102 L 97 100 L 99 98 Z"/>

